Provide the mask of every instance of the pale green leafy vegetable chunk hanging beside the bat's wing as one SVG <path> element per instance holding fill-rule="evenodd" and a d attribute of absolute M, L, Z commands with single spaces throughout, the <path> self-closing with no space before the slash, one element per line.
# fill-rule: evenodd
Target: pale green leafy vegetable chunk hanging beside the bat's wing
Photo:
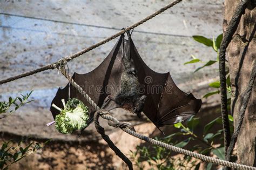
<path fill-rule="evenodd" d="M 89 110 L 82 101 L 72 98 L 65 104 L 64 99 L 62 99 L 64 108 L 61 109 L 55 104 L 55 107 L 60 111 L 55 117 L 55 127 L 58 132 L 63 134 L 72 133 L 75 130 L 82 130 L 87 126 L 87 121 L 89 120 Z"/>

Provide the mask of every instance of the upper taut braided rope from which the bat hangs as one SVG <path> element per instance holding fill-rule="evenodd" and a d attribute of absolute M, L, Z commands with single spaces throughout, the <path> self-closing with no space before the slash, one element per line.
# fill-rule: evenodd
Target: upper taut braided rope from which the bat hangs
<path fill-rule="evenodd" d="M 10 77 L 10 78 L 7 78 L 7 79 L 3 79 L 3 80 L 0 80 L 0 85 L 1 84 L 5 84 L 5 83 L 8 83 L 10 81 L 14 81 L 14 80 L 17 80 L 17 79 L 20 79 L 20 78 L 23 78 L 23 77 L 27 77 L 27 76 L 31 76 L 32 74 L 36 74 L 36 73 L 39 73 L 39 72 L 42 72 L 42 71 L 45 71 L 45 70 L 49 70 L 49 69 L 56 69 L 56 67 L 62 62 L 62 60 L 66 60 L 66 62 L 69 62 L 70 60 L 72 59 L 75 59 L 81 55 L 83 55 L 84 53 L 86 52 L 89 52 L 93 49 L 95 49 L 96 47 L 100 46 L 100 45 L 103 45 L 109 41 L 111 41 L 112 39 L 114 38 L 117 38 L 119 37 L 120 35 L 122 35 L 123 33 L 125 33 L 126 31 L 130 31 L 134 28 L 136 28 L 137 26 L 145 23 L 146 21 L 149 21 L 151 18 L 159 15 L 160 13 L 164 12 L 165 10 L 171 8 L 172 6 L 178 4 L 179 2 L 181 2 L 182 0 L 175 0 L 173 1 L 172 3 L 166 5 L 164 8 L 161 8 L 159 10 L 157 10 L 156 12 L 152 13 L 150 16 L 147 16 L 146 18 L 142 19 L 141 21 L 137 22 L 137 23 L 134 23 L 133 25 L 127 27 L 126 29 L 106 38 L 106 39 L 103 39 L 102 41 L 96 43 L 96 44 L 93 44 L 92 46 L 90 47 L 87 47 L 86 49 L 83 49 L 81 51 L 78 51 L 76 53 L 74 53 L 73 55 L 70 55 L 70 56 L 66 56 L 66 57 L 63 57 L 62 59 L 58 60 L 57 62 L 55 63 L 52 63 L 52 64 L 49 64 L 49 65 L 46 65 L 46 66 L 43 66 L 39 69 L 36 69 L 36 70 L 32 70 L 32 71 L 29 71 L 29 72 L 25 72 L 25 73 L 22 73 L 22 74 L 18 74 L 16 76 L 13 76 L 13 77 Z"/>

